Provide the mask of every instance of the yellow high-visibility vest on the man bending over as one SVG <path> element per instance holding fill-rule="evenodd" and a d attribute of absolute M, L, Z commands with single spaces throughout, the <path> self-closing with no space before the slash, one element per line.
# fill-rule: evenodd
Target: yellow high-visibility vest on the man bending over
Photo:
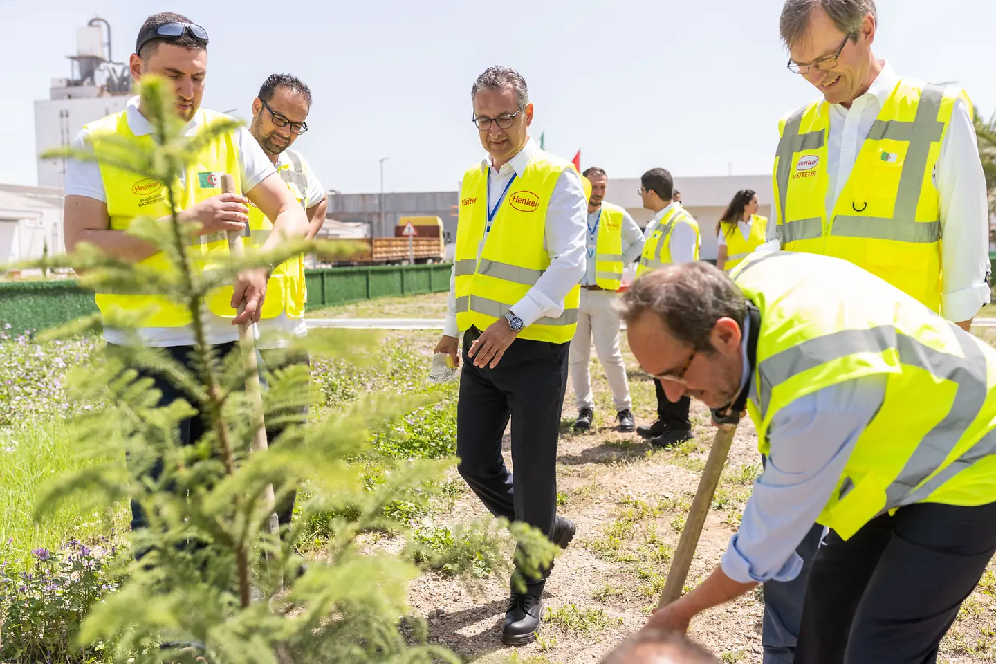
<path fill-rule="evenodd" d="M 818 523 L 848 539 L 914 503 L 996 502 L 996 349 L 849 261 L 752 254 L 731 277 L 761 313 L 747 409 L 762 454 L 795 399 L 885 380 Z"/>

